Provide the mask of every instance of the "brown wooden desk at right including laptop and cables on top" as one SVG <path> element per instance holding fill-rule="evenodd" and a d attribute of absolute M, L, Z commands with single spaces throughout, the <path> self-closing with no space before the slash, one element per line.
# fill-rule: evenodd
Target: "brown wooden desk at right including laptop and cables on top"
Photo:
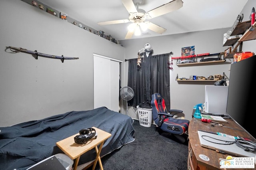
<path fill-rule="evenodd" d="M 232 119 L 227 117 L 224 119 L 227 123 L 214 121 L 213 123 L 223 125 L 214 127 L 211 126 L 211 121 L 206 123 L 205 120 L 196 118 L 190 121 L 188 128 L 189 168 L 243 168 L 244 170 L 255 168 L 255 138 Z"/>

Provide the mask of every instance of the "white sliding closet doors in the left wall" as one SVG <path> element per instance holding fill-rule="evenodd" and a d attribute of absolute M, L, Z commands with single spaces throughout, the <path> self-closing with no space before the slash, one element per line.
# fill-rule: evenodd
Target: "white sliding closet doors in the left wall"
<path fill-rule="evenodd" d="M 119 111 L 120 62 L 94 54 L 94 109 L 105 106 Z"/>

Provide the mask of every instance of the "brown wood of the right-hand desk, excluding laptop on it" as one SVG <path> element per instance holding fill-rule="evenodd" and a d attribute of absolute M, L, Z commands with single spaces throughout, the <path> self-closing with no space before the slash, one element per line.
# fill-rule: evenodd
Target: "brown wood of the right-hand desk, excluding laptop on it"
<path fill-rule="evenodd" d="M 208 132 L 222 132 L 232 136 L 242 136 L 246 138 L 252 138 L 250 134 L 242 131 L 234 121 L 226 119 L 228 123 L 223 123 L 226 127 L 215 126 L 212 127 L 211 123 L 202 123 L 201 119 L 193 118 L 188 127 L 188 170 L 219 170 L 220 169 L 220 160 L 219 158 L 226 159 L 229 154 L 221 154 L 215 150 L 204 148 L 200 145 L 198 132 L 197 130 L 205 130 Z M 227 128 L 231 127 L 231 128 Z M 235 129 L 238 130 L 235 130 Z M 206 155 L 210 160 L 203 160 L 200 158 L 200 154 Z M 236 157 L 236 156 L 233 156 Z M 256 167 L 256 166 L 255 166 Z M 255 168 L 256 169 L 256 168 Z M 220 169 L 223 170 L 223 169 Z M 232 169 L 235 170 L 235 169 Z M 237 169 L 241 170 L 241 169 Z M 245 170 L 245 169 L 243 169 Z M 252 169 L 248 169 L 252 170 Z"/>

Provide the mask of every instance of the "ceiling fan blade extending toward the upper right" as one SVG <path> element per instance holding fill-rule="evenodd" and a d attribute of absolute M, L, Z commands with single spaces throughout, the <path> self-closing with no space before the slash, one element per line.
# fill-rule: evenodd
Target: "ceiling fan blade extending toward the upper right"
<path fill-rule="evenodd" d="M 171 2 L 168 2 L 167 4 L 159 6 L 158 8 L 155 8 L 153 10 L 146 12 L 146 14 L 150 16 L 150 17 L 148 17 L 148 19 L 155 18 L 157 16 L 161 16 L 161 15 L 167 14 L 169 12 L 178 10 L 182 6 L 183 6 L 182 0 L 173 0 Z"/>

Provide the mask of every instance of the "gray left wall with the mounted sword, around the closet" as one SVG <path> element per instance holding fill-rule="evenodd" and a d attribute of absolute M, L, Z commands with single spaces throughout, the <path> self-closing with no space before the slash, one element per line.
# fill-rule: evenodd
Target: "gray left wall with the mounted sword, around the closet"
<path fill-rule="evenodd" d="M 0 126 L 93 109 L 93 53 L 124 61 L 124 47 L 21 0 L 0 1 Z M 79 57 L 8 53 L 6 46 Z"/>

